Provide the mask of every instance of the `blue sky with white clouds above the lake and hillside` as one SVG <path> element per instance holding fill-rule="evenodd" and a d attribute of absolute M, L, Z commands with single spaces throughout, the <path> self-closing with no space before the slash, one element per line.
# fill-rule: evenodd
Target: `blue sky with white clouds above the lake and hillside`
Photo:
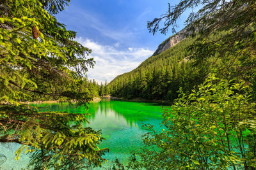
<path fill-rule="evenodd" d="M 77 32 L 76 41 L 92 49 L 90 57 L 96 64 L 89 69 L 88 78 L 109 82 L 138 67 L 164 39 L 172 36 L 171 31 L 153 36 L 147 29 L 147 21 L 168 10 L 169 2 L 178 1 L 70 0 L 70 5 L 56 18 Z M 180 18 L 177 31 L 184 27 L 185 19 Z"/>

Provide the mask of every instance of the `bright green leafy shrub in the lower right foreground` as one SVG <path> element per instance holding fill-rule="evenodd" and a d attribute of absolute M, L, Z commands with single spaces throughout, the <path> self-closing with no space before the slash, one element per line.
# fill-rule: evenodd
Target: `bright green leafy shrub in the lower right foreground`
<path fill-rule="evenodd" d="M 180 89 L 172 109 L 164 110 L 163 131 L 145 134 L 132 169 L 254 169 L 255 103 L 243 81 L 211 74 L 198 90 Z"/>

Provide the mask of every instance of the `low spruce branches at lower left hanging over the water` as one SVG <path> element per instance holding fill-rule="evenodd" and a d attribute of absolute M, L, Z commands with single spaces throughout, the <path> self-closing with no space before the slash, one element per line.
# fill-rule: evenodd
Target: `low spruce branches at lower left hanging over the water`
<path fill-rule="evenodd" d="M 85 115 L 38 113 L 35 108 L 26 105 L 1 106 L 0 113 L 1 117 L 18 124 L 4 124 L 6 134 L 1 136 L 0 141 L 22 144 L 16 152 L 17 159 L 22 152 L 32 152 L 33 169 L 74 169 L 101 166 L 102 161 L 106 161 L 100 155 L 107 149 L 100 150 L 97 147 L 104 138 L 100 136 L 100 131 L 83 127 L 83 122 L 87 121 Z"/>

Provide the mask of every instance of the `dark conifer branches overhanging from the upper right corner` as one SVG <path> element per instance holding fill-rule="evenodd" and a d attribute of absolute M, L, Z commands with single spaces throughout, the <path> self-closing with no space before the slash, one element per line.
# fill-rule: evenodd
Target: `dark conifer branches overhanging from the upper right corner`
<path fill-rule="evenodd" d="M 148 30 L 153 34 L 175 32 L 178 18 L 190 11 L 184 24 L 195 42 L 188 46 L 188 59 L 206 69 L 220 62 L 212 72 L 246 81 L 255 101 L 256 1 L 182 0 L 175 5 L 170 2 L 168 7 L 163 15 L 148 22 Z M 195 8 L 198 11 L 193 11 Z"/>

